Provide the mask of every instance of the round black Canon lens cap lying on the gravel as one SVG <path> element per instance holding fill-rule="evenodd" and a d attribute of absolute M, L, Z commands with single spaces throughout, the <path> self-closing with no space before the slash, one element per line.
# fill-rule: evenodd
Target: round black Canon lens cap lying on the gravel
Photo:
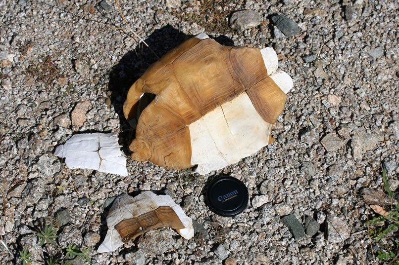
<path fill-rule="evenodd" d="M 224 217 L 242 213 L 248 200 L 248 189 L 244 183 L 227 175 L 215 179 L 206 192 L 206 204 L 209 209 Z"/>

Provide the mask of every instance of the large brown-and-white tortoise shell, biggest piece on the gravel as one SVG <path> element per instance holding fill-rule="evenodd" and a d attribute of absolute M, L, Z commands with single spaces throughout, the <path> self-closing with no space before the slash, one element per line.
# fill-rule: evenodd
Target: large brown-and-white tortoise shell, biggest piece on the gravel
<path fill-rule="evenodd" d="M 171 169 L 198 165 L 205 174 L 259 151 L 273 142 L 271 126 L 293 86 L 277 68 L 272 48 L 224 46 L 205 34 L 183 42 L 128 92 L 128 120 L 144 93 L 156 95 L 138 119 L 132 158 Z"/>

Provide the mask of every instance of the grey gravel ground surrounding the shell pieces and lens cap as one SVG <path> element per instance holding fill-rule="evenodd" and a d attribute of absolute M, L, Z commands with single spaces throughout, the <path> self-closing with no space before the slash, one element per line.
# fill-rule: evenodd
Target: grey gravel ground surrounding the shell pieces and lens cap
<path fill-rule="evenodd" d="M 121 1 L 148 48 L 117 29 L 127 26 L 111 0 L 1 0 L 0 239 L 10 253 L 0 245 L 0 264 L 21 264 L 23 249 L 38 262 L 62 260 L 68 244 L 91 246 L 92 264 L 382 263 L 371 245 L 393 245 L 393 235 L 369 239 L 364 222 L 374 214 L 357 193 L 383 190 L 383 165 L 391 189 L 399 185 L 399 4 L 330 2 Z M 242 9 L 255 13 L 235 14 L 230 26 Z M 294 80 L 275 142 L 220 171 L 249 188 L 244 213 L 222 218 L 205 206 L 202 187 L 217 172 L 129 158 L 122 178 L 70 170 L 53 155 L 75 133 L 111 131 L 128 155 L 134 129 L 121 106 L 129 86 L 154 53 L 203 31 L 223 44 L 272 46 Z M 171 195 L 195 220 L 195 238 L 158 229 L 98 254 L 112 198 L 140 190 Z M 45 224 L 58 228 L 55 245 L 39 246 L 35 233 Z"/>

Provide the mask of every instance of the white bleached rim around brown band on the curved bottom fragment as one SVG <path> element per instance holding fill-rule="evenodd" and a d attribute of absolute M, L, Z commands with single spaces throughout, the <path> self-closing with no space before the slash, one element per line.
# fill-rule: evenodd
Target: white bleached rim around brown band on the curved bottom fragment
<path fill-rule="evenodd" d="M 142 192 L 135 197 L 122 194 L 114 200 L 109 210 L 106 218 L 108 231 L 97 252 L 114 251 L 123 245 L 122 237 L 115 229 L 115 226 L 121 221 L 138 217 L 142 214 L 154 211 L 158 207 L 164 206 L 171 207 L 185 227 L 178 229 L 178 233 L 186 239 L 192 238 L 194 236 L 194 228 L 191 218 L 186 216 L 182 208 L 177 205 L 170 196 L 156 195 L 151 191 Z"/>

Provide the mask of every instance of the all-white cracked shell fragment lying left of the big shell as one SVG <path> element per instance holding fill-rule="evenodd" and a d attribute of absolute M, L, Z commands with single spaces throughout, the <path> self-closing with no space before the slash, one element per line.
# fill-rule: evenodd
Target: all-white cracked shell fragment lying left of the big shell
<path fill-rule="evenodd" d="M 120 151 L 116 132 L 76 134 L 58 146 L 54 154 L 65 157 L 69 168 L 90 168 L 121 176 L 128 175 L 126 157 Z"/>

